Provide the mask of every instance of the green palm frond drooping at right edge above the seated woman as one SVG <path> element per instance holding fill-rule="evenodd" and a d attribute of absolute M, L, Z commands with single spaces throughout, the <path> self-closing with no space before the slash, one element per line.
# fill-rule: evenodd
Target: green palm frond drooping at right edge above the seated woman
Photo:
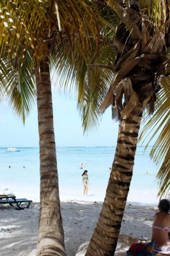
<path fill-rule="evenodd" d="M 164 77 L 161 81 L 162 83 L 162 90 L 159 92 L 159 97 L 157 101 L 157 106 L 155 108 L 155 113 L 153 116 L 149 116 L 146 113 L 144 116 L 144 128 L 140 134 L 139 140 L 140 141 L 147 141 L 146 148 L 150 145 L 151 141 L 158 134 L 158 138 L 155 141 L 150 156 L 153 161 L 160 166 L 159 171 L 157 173 L 158 185 L 160 190 L 158 195 L 164 196 L 167 195 L 169 192 L 170 187 L 169 184 L 169 177 L 170 177 L 170 162 L 169 162 L 169 140 L 170 140 L 170 125 L 169 125 L 169 105 L 170 105 L 170 98 L 169 98 L 169 83 L 170 79 Z M 150 140 L 147 140 L 148 134 L 150 131 L 154 131 L 153 135 L 151 136 Z"/>

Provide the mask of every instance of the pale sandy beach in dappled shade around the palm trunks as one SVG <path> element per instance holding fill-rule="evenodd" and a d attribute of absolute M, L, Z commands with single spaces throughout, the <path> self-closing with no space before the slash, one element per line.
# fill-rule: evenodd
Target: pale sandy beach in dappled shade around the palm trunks
<path fill-rule="evenodd" d="M 33 202 L 29 209 L 16 211 L 15 207 L 0 205 L 1 256 L 35 256 L 39 207 L 39 203 Z M 82 250 L 78 252 L 78 249 L 80 246 L 86 249 L 101 209 L 102 204 L 92 202 L 61 203 L 68 256 L 84 255 Z M 141 236 L 150 239 L 155 211 L 156 206 L 127 203 L 117 253 L 125 255 L 130 244 L 138 241 Z"/>

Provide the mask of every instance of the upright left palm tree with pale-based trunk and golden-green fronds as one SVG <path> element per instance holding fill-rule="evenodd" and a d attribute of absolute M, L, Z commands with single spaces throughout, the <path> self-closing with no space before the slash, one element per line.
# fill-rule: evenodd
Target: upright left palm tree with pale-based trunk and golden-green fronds
<path fill-rule="evenodd" d="M 93 8 L 87 5 L 87 1 L 43 3 L 31 0 L 27 4 L 22 0 L 7 0 L 0 3 L 0 11 L 0 74 L 6 95 L 15 92 L 15 87 L 23 90 L 23 84 L 27 88 L 30 81 L 36 82 L 40 139 L 40 218 L 36 255 L 66 255 L 59 202 L 50 69 L 54 60 L 62 69 L 68 54 L 65 47 L 69 47 L 69 65 L 74 63 L 70 52 L 79 54 L 82 45 L 90 52 L 91 34 L 97 36 L 100 29 Z M 91 28 L 88 26 L 89 17 Z M 11 70 L 18 77 L 17 86 L 15 79 L 11 78 Z M 21 72 L 23 75 L 26 72 L 27 76 L 21 76 Z M 20 104 L 23 109 L 29 96 L 27 92 L 25 96 L 23 99 L 21 93 Z M 16 93 L 10 100 L 16 111 L 22 110 L 21 105 L 17 108 L 15 104 L 18 102 Z"/>

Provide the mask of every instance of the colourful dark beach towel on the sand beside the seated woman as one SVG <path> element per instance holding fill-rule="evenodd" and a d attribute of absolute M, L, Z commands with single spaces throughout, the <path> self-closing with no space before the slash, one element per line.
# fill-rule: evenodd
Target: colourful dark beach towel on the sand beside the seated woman
<path fill-rule="evenodd" d="M 135 243 L 130 246 L 127 256 L 151 256 L 155 248 L 155 241 L 150 243 Z"/>

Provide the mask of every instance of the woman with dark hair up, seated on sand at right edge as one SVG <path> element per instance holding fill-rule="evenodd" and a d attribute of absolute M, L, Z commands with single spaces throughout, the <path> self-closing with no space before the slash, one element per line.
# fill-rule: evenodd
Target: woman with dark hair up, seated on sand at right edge
<path fill-rule="evenodd" d="M 170 200 L 162 199 L 155 214 L 151 239 L 156 252 L 170 252 Z"/>

